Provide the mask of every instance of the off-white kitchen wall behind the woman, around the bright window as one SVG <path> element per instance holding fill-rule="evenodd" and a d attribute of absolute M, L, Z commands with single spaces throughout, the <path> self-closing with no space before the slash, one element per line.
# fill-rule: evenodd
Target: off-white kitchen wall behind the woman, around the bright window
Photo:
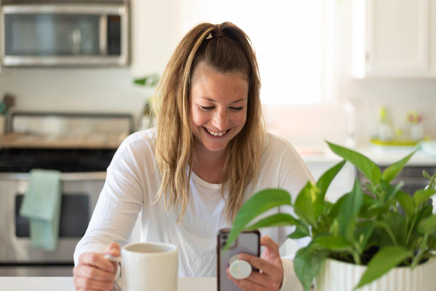
<path fill-rule="evenodd" d="M 335 40 L 335 104 L 266 109 L 267 125 L 297 147 L 325 148 L 324 139 L 344 143 L 347 135 L 346 100 L 358 107 L 358 142 L 375 131 L 378 106 L 384 105 L 395 126 L 405 126 L 408 110 L 424 117 L 427 134 L 436 138 L 436 80 L 353 80 L 350 72 L 350 3 L 337 5 Z M 17 96 L 17 110 L 130 112 L 138 115 L 150 91 L 133 85 L 133 77 L 164 69 L 177 44 L 180 7 L 175 0 L 133 0 L 132 68 L 2 68 L 0 96 Z M 230 20 L 231 21 L 231 20 Z M 136 46 L 138 47 L 138 46 Z M 292 85 L 292 84 L 291 84 Z"/>

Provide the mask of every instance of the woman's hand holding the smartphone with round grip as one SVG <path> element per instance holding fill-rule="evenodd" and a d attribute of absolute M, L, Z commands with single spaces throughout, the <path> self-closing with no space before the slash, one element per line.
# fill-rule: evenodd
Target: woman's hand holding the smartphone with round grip
<path fill-rule="evenodd" d="M 227 268 L 227 277 L 242 291 L 277 291 L 283 280 L 283 265 L 279 255 L 279 245 L 269 236 L 260 238 L 260 245 L 265 246 L 262 256 L 255 257 L 246 253 L 238 255 L 259 271 L 252 271 L 245 279 L 235 279 Z"/>

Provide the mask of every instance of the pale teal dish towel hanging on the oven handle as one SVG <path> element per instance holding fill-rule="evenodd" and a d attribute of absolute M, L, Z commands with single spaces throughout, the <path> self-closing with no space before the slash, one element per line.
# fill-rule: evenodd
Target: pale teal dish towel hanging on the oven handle
<path fill-rule="evenodd" d="M 30 220 L 31 246 L 57 249 L 61 219 L 61 172 L 34 169 L 20 207 L 20 216 Z"/>

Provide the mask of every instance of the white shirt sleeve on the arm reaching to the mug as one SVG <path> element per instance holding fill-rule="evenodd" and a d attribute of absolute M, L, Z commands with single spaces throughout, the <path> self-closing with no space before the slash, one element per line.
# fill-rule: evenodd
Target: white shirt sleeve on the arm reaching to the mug
<path fill-rule="evenodd" d="M 76 246 L 76 266 L 82 253 L 102 253 L 112 242 L 120 247 L 129 242 L 144 203 L 140 163 L 134 152 L 132 145 L 125 141 L 112 158 L 88 229 Z"/>

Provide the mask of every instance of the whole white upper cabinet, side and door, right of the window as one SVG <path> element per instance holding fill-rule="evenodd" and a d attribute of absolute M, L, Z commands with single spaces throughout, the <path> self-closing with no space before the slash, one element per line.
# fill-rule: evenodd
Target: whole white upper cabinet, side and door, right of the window
<path fill-rule="evenodd" d="M 352 0 L 352 75 L 436 77 L 436 0 Z"/>

